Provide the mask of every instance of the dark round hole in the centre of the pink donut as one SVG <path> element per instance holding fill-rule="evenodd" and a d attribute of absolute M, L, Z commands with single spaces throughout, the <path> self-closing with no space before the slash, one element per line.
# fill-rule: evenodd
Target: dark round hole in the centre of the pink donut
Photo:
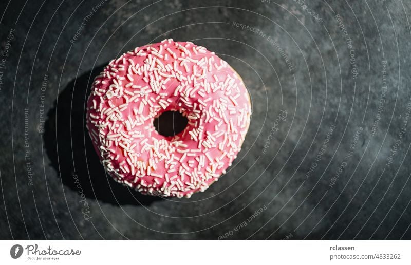
<path fill-rule="evenodd" d="M 154 127 L 162 136 L 175 136 L 181 133 L 189 123 L 178 111 L 165 111 L 154 119 Z"/>

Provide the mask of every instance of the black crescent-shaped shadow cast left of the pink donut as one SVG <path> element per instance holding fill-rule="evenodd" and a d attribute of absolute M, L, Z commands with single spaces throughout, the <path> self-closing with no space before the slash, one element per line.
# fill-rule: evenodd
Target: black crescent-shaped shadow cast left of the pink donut
<path fill-rule="evenodd" d="M 43 135 L 46 154 L 64 185 L 86 198 L 118 206 L 150 205 L 163 199 L 143 195 L 113 180 L 100 163 L 85 127 L 91 83 L 105 65 L 72 80 L 54 101 Z"/>

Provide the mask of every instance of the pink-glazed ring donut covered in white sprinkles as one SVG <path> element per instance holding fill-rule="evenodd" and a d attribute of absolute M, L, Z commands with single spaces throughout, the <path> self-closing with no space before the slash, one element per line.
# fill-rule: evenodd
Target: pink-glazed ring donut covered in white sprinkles
<path fill-rule="evenodd" d="M 237 72 L 214 52 L 172 39 L 137 47 L 95 78 L 86 127 L 105 170 L 142 194 L 187 197 L 226 173 L 251 119 Z M 188 121 L 176 135 L 154 120 L 175 111 Z"/>

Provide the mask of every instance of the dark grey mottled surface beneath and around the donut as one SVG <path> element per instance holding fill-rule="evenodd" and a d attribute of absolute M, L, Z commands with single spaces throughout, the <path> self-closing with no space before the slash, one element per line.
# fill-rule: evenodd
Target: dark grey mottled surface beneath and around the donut
<path fill-rule="evenodd" d="M 399 138 L 410 103 L 410 4 L 327 2 L 306 3 L 319 22 L 294 1 L 103 1 L 97 9 L 96 0 L 2 1 L 1 50 L 9 56 L 0 90 L 0 238 L 411 238 L 411 127 Z M 233 166 L 191 199 L 146 197 L 107 178 L 83 125 L 98 70 L 127 50 L 168 37 L 219 54 L 244 79 L 253 104 Z M 281 110 L 287 117 L 275 122 Z"/>

